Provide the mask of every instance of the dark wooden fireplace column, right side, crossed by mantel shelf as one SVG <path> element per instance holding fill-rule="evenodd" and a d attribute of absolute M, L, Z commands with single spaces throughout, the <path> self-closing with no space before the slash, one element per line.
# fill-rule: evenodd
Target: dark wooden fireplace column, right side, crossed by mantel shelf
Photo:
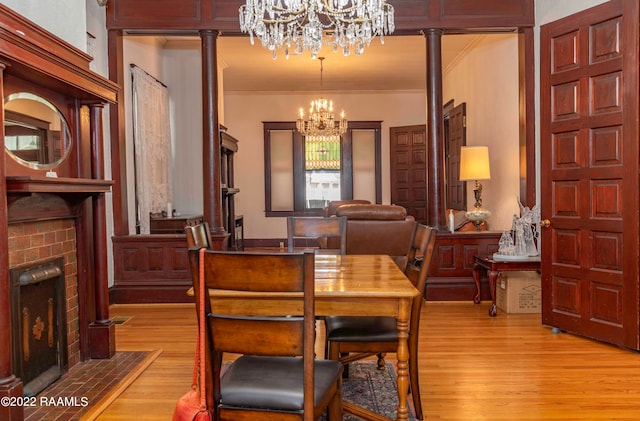
<path fill-rule="evenodd" d="M 104 180 L 102 104 L 91 104 L 91 178 Z M 91 358 L 111 358 L 116 353 L 116 329 L 109 319 L 109 277 L 107 266 L 107 214 L 103 193 L 93 196 L 93 264 L 95 276 L 95 321 L 89 325 Z"/>

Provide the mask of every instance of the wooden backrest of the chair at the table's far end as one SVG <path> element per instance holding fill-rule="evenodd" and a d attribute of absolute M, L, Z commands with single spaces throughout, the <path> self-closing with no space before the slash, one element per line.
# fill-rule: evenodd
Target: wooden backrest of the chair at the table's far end
<path fill-rule="evenodd" d="M 339 248 L 326 247 L 329 238 L 340 241 Z M 287 247 L 295 250 L 296 240 L 304 239 L 304 247 L 319 247 L 322 253 L 346 254 L 347 218 L 345 217 L 297 217 L 287 218 Z M 310 244 L 308 240 L 313 240 Z"/>

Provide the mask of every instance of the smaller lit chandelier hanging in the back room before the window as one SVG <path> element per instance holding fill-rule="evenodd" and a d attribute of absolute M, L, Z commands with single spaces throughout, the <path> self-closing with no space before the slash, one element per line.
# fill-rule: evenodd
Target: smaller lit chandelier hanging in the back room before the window
<path fill-rule="evenodd" d="M 306 138 L 339 138 L 347 131 L 347 119 L 344 118 L 344 111 L 340 114 L 340 120 L 333 117 L 333 101 L 329 101 L 322 96 L 322 61 L 320 60 L 320 98 L 311 101 L 309 118 L 304 119 L 304 111 L 300 108 L 300 116 L 296 121 L 296 128 Z"/>

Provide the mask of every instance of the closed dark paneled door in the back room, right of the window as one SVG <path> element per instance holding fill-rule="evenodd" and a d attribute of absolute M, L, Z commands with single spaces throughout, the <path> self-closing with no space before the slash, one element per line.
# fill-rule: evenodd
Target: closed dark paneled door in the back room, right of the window
<path fill-rule="evenodd" d="M 426 125 L 391 127 L 391 203 L 427 223 Z"/>

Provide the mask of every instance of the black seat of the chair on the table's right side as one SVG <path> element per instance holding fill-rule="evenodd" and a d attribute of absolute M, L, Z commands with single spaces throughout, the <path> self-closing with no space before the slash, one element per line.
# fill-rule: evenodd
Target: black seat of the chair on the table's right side
<path fill-rule="evenodd" d="M 395 342 L 394 317 L 329 316 L 325 318 L 327 339 L 338 342 Z"/>

